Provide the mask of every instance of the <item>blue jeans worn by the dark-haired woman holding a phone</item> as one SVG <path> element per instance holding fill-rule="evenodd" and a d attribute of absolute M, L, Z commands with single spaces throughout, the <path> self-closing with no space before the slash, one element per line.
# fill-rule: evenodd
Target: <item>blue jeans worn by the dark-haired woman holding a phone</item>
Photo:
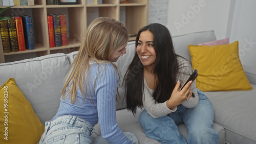
<path fill-rule="evenodd" d="M 153 118 L 146 110 L 139 116 L 139 123 L 147 137 L 161 143 L 218 143 L 219 134 L 214 129 L 214 109 L 205 94 L 197 89 L 199 102 L 194 108 L 177 106 L 176 112 Z M 187 141 L 180 134 L 177 125 L 185 124 L 188 131 Z"/>

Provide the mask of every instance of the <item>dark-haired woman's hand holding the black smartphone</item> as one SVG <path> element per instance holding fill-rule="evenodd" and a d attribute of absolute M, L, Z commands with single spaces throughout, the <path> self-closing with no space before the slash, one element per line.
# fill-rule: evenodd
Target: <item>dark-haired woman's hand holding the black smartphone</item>
<path fill-rule="evenodd" d="M 191 91 L 191 83 L 193 81 L 189 81 L 185 87 L 180 90 L 180 82 L 178 81 L 173 92 L 172 95 L 170 96 L 170 99 L 166 102 L 166 106 L 170 109 L 173 110 L 176 106 L 180 105 L 181 103 L 183 103 L 184 101 L 187 101 L 191 95 L 192 95 L 192 91 Z"/>

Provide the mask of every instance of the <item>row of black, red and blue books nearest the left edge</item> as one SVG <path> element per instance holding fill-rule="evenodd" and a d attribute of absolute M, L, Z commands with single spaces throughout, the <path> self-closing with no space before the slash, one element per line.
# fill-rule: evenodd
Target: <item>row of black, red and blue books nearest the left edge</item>
<path fill-rule="evenodd" d="M 16 16 L 0 21 L 4 53 L 33 50 L 35 37 L 31 16 Z"/>

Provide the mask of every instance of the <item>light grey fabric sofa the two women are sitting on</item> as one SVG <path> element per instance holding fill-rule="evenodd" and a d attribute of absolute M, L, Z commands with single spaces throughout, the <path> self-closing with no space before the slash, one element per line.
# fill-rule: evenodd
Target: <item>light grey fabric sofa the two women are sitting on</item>
<path fill-rule="evenodd" d="M 216 40 L 214 31 L 190 33 L 174 36 L 176 53 L 190 60 L 188 44 Z M 135 53 L 135 42 L 128 43 L 127 52 L 116 62 L 120 76 L 126 71 Z M 49 121 L 57 112 L 63 80 L 77 52 L 70 54 L 52 54 L 33 59 L 26 59 L 0 64 L 0 84 L 9 78 L 14 78 L 31 103 L 34 112 L 42 124 Z M 256 143 L 256 70 L 255 67 L 243 65 L 246 76 L 253 87 L 249 91 L 212 91 L 205 92 L 214 106 L 214 129 L 220 135 L 219 143 Z M 123 93 L 123 85 L 120 85 Z M 122 131 L 132 132 L 139 143 L 159 143 L 146 137 L 143 128 L 138 123 L 138 113 L 134 116 L 125 108 L 125 101 L 116 103 L 117 122 Z M 181 134 L 187 138 L 185 125 L 178 126 Z M 95 126 L 94 136 L 100 135 L 100 126 Z"/>

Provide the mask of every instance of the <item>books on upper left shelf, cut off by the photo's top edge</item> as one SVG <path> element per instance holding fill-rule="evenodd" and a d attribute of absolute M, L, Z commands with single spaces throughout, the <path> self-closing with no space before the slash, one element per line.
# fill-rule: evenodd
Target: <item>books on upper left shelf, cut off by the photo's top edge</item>
<path fill-rule="evenodd" d="M 34 6 L 34 0 L 0 0 L 0 6 Z"/>

